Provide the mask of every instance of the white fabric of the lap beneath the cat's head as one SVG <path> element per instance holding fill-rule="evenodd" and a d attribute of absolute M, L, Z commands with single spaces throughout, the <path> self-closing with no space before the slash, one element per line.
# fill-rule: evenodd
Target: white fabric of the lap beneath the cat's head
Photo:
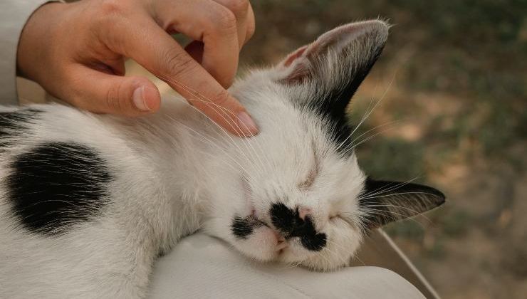
<path fill-rule="evenodd" d="M 353 267 L 318 273 L 254 263 L 204 234 L 184 238 L 160 258 L 151 298 L 424 298 L 396 273 Z"/>

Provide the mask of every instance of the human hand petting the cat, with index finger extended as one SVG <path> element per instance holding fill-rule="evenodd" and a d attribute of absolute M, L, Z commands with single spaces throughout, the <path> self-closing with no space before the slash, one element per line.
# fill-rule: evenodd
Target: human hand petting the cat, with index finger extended
<path fill-rule="evenodd" d="M 183 49 L 168 33 L 194 41 Z M 222 127 L 250 136 L 258 129 L 226 88 L 253 33 L 249 0 L 56 2 L 26 23 L 17 65 L 48 93 L 85 110 L 155 112 L 161 101 L 155 85 L 123 76 L 124 59 L 132 58 Z"/>

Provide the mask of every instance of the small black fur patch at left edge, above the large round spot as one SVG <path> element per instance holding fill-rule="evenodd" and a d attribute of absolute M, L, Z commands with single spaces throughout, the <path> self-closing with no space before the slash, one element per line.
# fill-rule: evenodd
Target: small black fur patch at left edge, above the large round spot
<path fill-rule="evenodd" d="M 27 128 L 29 122 L 38 117 L 40 110 L 24 109 L 14 112 L 0 112 L 0 152 L 13 144 L 11 137 L 21 135 Z"/>

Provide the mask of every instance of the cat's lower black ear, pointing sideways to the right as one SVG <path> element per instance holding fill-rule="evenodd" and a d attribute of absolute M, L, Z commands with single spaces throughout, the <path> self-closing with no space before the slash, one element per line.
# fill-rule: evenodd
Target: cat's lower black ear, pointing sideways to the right
<path fill-rule="evenodd" d="M 368 229 L 406 219 L 444 204 L 444 194 L 432 187 L 367 178 L 359 198 Z"/>

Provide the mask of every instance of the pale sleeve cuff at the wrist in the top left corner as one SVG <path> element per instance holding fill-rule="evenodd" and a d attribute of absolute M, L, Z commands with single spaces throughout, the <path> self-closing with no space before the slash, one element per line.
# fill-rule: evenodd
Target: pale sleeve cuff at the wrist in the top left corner
<path fill-rule="evenodd" d="M 0 104 L 16 105 L 16 49 L 26 21 L 49 0 L 0 1 Z"/>

